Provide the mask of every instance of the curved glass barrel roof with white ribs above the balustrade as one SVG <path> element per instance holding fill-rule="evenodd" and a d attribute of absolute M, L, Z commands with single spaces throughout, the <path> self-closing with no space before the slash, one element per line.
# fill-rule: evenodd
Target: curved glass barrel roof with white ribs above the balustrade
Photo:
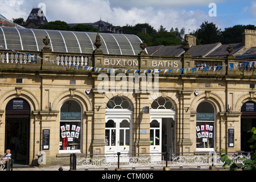
<path fill-rule="evenodd" d="M 96 32 L 75 32 L 0 27 L 0 46 L 15 51 L 41 51 L 43 39 L 48 36 L 54 52 L 92 53 L 96 47 Z M 141 39 L 136 35 L 100 33 L 105 54 L 138 55 L 142 51 Z"/>

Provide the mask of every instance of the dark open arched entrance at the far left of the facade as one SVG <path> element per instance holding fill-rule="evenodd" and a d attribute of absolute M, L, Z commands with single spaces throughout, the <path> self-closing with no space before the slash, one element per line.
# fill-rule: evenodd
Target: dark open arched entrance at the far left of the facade
<path fill-rule="evenodd" d="M 5 147 L 10 148 L 14 164 L 28 164 L 30 105 L 14 98 L 6 105 Z"/>

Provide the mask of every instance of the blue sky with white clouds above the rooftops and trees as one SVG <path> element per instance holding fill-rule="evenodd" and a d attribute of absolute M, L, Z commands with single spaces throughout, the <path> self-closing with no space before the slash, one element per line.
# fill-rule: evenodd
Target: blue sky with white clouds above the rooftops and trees
<path fill-rule="evenodd" d="M 105 20 L 115 26 L 151 24 L 167 30 L 185 28 L 191 32 L 204 21 L 222 30 L 236 24 L 256 24 L 256 0 L 0 0 L 0 14 L 7 19 L 27 19 L 33 7 L 46 6 L 48 21 L 93 23 Z M 216 4 L 217 16 L 210 17 L 209 3 Z"/>

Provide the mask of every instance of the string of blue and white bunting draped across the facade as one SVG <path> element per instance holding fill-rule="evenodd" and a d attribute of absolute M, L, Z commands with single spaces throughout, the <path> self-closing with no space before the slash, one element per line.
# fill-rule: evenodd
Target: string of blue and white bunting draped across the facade
<path fill-rule="evenodd" d="M 3 48 L 3 49 L 6 49 L 5 47 L 1 46 L 0 45 L 0 48 Z M 6 49 L 6 50 L 9 50 L 9 51 L 12 51 L 12 52 L 16 52 L 16 53 L 22 53 L 23 55 L 27 55 L 27 56 L 31 56 L 31 57 L 34 57 L 34 60 L 31 61 L 32 64 L 35 64 L 36 63 L 36 58 L 39 58 L 39 59 L 44 59 L 43 57 L 40 57 L 40 56 L 36 56 L 36 55 L 31 55 L 31 54 L 27 54 L 27 53 L 24 53 L 24 52 L 20 52 L 20 51 L 14 51 L 13 49 Z M 49 60 L 49 59 L 44 59 L 44 60 L 47 60 L 47 61 L 51 61 L 52 63 L 56 63 L 56 61 L 54 60 Z M 30 63 L 30 64 L 31 64 Z M 247 67 L 247 64 L 249 64 L 249 68 L 252 67 L 252 65 L 256 65 L 256 61 L 250 61 L 250 62 L 245 62 L 245 63 L 237 63 L 235 64 L 236 67 L 239 66 L 239 69 L 241 69 L 241 66 L 242 64 L 244 65 L 244 68 Z M 59 65 L 59 63 L 58 63 Z M 62 64 L 63 67 L 64 67 L 64 64 Z M 71 63 L 65 63 L 65 65 L 67 65 L 69 68 L 71 67 L 77 67 L 77 69 L 79 70 L 81 67 L 82 67 L 82 70 L 84 71 L 92 71 L 92 69 L 95 69 L 95 72 L 100 72 L 102 70 L 107 70 L 108 73 L 114 73 L 115 71 L 122 71 L 124 73 L 126 73 L 127 71 L 132 71 L 134 73 L 144 73 L 144 74 L 148 74 L 148 73 L 156 73 L 156 71 L 160 72 L 160 71 L 164 71 L 164 74 L 168 73 L 168 75 L 171 73 L 171 72 L 174 72 L 176 71 L 179 72 L 180 71 L 180 74 L 185 74 L 187 73 L 187 71 L 191 71 L 192 70 L 192 73 L 194 73 L 196 71 L 196 73 L 199 71 L 203 71 L 205 70 L 205 73 L 212 69 L 213 68 L 213 71 L 215 72 L 216 70 L 220 71 L 222 67 L 227 67 L 228 65 L 218 65 L 218 66 L 211 66 L 211 67 L 208 67 L 206 65 L 206 63 L 204 63 L 204 65 L 201 65 L 201 67 L 195 67 L 195 68 L 172 68 L 172 69 L 114 69 L 114 68 L 97 68 L 97 67 L 88 67 L 88 66 L 81 66 L 81 65 L 75 65 L 75 64 L 71 64 Z M 232 68 L 234 67 L 234 64 L 229 64 L 229 69 L 232 70 Z"/>

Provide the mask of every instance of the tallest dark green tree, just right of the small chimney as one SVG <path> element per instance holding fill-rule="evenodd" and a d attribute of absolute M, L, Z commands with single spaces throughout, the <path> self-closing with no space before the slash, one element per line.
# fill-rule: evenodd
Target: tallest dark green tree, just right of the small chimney
<path fill-rule="evenodd" d="M 218 43 L 221 40 L 221 29 L 218 29 L 214 23 L 207 21 L 202 23 L 200 28 L 195 31 L 199 44 Z"/>

